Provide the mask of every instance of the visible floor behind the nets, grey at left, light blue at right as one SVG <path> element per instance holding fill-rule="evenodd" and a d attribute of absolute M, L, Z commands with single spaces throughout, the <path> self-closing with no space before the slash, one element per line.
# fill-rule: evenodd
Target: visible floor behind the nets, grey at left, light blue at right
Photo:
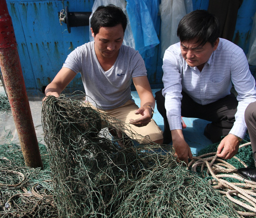
<path fill-rule="evenodd" d="M 159 89 L 153 89 L 153 95 Z M 2 82 L 0 81 L 0 93 L 4 94 L 4 87 Z M 44 143 L 44 133 L 42 129 L 41 122 L 41 112 L 42 112 L 42 98 L 44 95 L 40 92 L 36 93 L 36 95 L 31 95 L 28 93 L 28 100 L 30 104 L 31 115 L 34 123 L 34 128 L 36 131 L 36 136 L 39 143 Z M 138 93 L 136 91 L 132 91 L 132 97 L 135 100 L 137 105 L 140 105 L 140 99 L 138 97 Z M 159 125 L 159 127 L 164 130 L 164 122 L 162 116 L 155 108 L 154 120 Z M 196 154 L 200 149 L 206 147 L 207 145 L 212 144 L 210 140 L 208 140 L 204 135 L 204 127 L 208 121 L 204 121 L 201 119 L 194 118 L 185 118 L 183 117 L 183 121 L 186 125 L 186 128 L 183 130 L 184 137 L 187 143 L 190 145 L 192 153 Z M 14 119 L 12 117 L 12 113 L 3 113 L 0 114 L 0 145 L 12 141 L 13 143 L 20 144 Z"/>

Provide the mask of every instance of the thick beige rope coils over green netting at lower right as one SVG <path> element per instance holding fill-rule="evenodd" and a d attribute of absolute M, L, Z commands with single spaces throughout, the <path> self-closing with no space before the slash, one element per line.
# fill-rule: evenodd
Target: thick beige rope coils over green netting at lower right
<path fill-rule="evenodd" d="M 240 145 L 238 154 L 251 155 L 252 157 L 252 152 L 248 152 L 248 149 L 247 152 L 241 151 L 246 147 L 251 150 L 251 147 L 247 145 L 250 143 Z M 232 162 L 232 164 L 228 162 Z M 256 182 L 244 179 L 237 174 L 237 169 L 243 167 L 248 166 L 237 155 L 224 161 L 217 157 L 216 152 L 193 157 L 193 160 L 188 164 L 188 168 L 194 172 L 200 172 L 203 178 L 211 182 L 213 188 L 228 198 L 238 214 L 256 216 Z"/>

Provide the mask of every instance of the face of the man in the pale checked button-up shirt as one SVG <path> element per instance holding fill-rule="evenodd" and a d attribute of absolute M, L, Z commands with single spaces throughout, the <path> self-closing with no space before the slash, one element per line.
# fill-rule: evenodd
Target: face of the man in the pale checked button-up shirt
<path fill-rule="evenodd" d="M 218 38 L 216 42 L 214 42 L 213 47 L 210 42 L 206 42 L 204 46 L 196 44 L 196 40 L 180 42 L 182 57 L 190 67 L 198 67 L 201 71 L 204 67 L 204 63 L 208 61 L 212 52 L 214 52 L 218 47 L 219 41 L 220 39 Z"/>

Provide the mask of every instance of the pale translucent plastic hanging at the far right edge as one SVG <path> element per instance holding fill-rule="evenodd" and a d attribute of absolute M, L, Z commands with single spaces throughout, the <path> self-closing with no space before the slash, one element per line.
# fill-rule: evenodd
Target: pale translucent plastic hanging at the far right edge
<path fill-rule="evenodd" d="M 256 13 L 254 14 L 252 32 L 249 42 L 249 51 L 246 55 L 250 65 L 256 65 Z"/>

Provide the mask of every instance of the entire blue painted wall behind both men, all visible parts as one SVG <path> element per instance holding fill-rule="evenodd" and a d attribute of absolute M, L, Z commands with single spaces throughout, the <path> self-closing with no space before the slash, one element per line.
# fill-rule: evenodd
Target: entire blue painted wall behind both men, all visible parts
<path fill-rule="evenodd" d="M 12 18 L 18 43 L 26 89 L 29 95 L 42 88 L 58 73 L 67 55 L 89 42 L 89 28 L 74 27 L 68 33 L 66 24 L 60 25 L 58 12 L 63 9 L 62 0 L 6 0 Z M 70 12 L 91 12 L 93 0 L 64 0 Z M 208 0 L 193 0 L 193 8 L 208 8 Z M 256 11 L 256 0 L 244 0 L 238 11 L 233 42 L 248 52 L 250 31 Z M 158 36 L 160 16 L 158 16 Z M 155 55 L 145 59 L 148 79 L 152 88 L 162 86 L 162 59 L 160 45 L 155 47 Z M 80 74 L 68 85 L 67 92 L 82 88 Z"/>

